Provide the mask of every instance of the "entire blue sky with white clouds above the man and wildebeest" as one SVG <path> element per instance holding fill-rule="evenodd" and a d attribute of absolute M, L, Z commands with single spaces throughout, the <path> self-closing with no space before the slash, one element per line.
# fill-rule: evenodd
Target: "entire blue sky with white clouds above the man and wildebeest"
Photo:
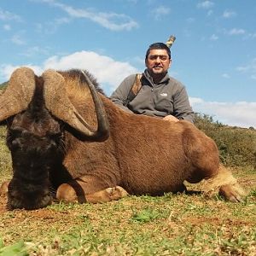
<path fill-rule="evenodd" d="M 109 96 L 174 34 L 169 73 L 195 112 L 256 128 L 255 24 L 255 0 L 1 0 L 0 83 L 20 66 L 78 67 Z"/>

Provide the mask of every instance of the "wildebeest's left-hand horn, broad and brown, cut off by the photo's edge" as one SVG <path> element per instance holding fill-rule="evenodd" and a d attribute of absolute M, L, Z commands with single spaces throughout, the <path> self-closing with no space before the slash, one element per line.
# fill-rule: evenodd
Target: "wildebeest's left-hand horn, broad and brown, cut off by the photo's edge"
<path fill-rule="evenodd" d="M 35 90 L 35 74 L 29 67 L 20 67 L 12 73 L 9 84 L 0 95 L 0 121 L 27 108 Z"/>

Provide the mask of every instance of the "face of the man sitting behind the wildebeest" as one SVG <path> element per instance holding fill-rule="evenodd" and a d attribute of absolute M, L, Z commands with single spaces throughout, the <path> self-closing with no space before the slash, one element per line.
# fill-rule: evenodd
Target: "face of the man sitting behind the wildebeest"
<path fill-rule="evenodd" d="M 145 60 L 148 73 L 151 75 L 166 74 L 171 62 L 166 49 L 150 49 L 148 58 Z"/>

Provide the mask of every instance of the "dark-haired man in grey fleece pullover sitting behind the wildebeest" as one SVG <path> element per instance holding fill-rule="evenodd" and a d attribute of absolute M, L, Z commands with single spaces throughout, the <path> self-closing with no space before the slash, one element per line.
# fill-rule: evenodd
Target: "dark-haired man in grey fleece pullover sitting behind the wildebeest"
<path fill-rule="evenodd" d="M 137 75 L 128 76 L 113 91 L 111 100 L 125 111 L 160 117 L 177 122 L 179 119 L 194 123 L 194 112 L 183 84 L 168 75 L 172 64 L 171 51 L 164 43 L 151 44 L 145 57 L 146 69 L 140 79 L 141 89 L 137 96 L 129 93 Z"/>

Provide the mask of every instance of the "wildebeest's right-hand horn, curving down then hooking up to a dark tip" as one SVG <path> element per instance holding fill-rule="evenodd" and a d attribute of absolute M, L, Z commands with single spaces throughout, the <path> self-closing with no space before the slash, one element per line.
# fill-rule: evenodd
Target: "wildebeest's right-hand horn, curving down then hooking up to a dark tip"
<path fill-rule="evenodd" d="M 90 138 L 90 140 L 103 141 L 108 138 L 109 135 L 107 114 L 105 113 L 102 101 L 97 95 L 90 79 L 88 79 L 84 73 L 83 75 L 90 88 L 90 93 L 95 103 L 98 122 L 96 131 L 93 131 L 90 125 L 80 115 L 78 110 L 74 108 L 73 103 L 70 102 L 67 96 L 65 79 L 60 73 L 50 69 L 43 73 L 45 106 L 49 109 L 49 112 L 55 115 L 55 117 L 63 120 L 85 137 Z"/>

